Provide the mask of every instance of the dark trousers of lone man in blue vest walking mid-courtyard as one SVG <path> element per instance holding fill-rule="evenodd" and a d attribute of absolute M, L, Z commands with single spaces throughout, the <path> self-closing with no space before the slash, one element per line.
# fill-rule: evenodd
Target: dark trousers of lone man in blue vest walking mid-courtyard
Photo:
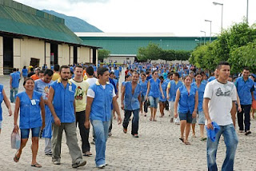
<path fill-rule="evenodd" d="M 125 109 L 125 118 L 123 119 L 122 126 L 127 129 L 130 121 L 131 113 L 134 113 L 133 121 L 132 121 L 132 128 L 131 128 L 131 134 L 138 134 L 138 112 L 139 109 L 135 110 L 126 110 Z"/>

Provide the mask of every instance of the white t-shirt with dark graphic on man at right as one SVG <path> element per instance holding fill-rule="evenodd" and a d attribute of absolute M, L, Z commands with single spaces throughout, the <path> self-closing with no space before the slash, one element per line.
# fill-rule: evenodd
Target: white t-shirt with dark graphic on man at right
<path fill-rule="evenodd" d="M 218 125 L 230 125 L 233 123 L 230 110 L 232 101 L 237 101 L 237 91 L 233 82 L 222 84 L 218 80 L 206 85 L 204 98 L 209 98 L 210 120 Z"/>

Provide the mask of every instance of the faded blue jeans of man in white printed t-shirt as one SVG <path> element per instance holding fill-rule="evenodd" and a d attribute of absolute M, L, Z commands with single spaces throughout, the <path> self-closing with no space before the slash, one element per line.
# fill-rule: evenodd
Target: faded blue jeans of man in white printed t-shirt
<path fill-rule="evenodd" d="M 221 135 L 224 137 L 226 145 L 226 158 L 222 165 L 222 171 L 234 170 L 234 155 L 238 145 L 238 136 L 235 132 L 234 125 L 219 126 L 220 130 L 216 133 L 216 140 L 213 142 L 207 138 L 207 165 L 208 170 L 218 170 L 216 164 L 216 153 L 218 149 L 218 141 Z"/>

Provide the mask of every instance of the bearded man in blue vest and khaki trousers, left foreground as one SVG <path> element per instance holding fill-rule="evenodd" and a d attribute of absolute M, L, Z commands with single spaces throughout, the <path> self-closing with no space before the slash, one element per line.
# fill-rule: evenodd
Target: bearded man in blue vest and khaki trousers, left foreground
<path fill-rule="evenodd" d="M 52 161 L 54 165 L 60 165 L 62 132 L 66 133 L 66 144 L 70 149 L 72 167 L 78 168 L 86 165 L 82 160 L 81 149 L 78 147 L 78 138 L 75 126 L 74 93 L 76 85 L 69 80 L 69 66 L 60 68 L 60 78 L 50 85 L 48 106 L 53 115 L 52 124 Z"/>

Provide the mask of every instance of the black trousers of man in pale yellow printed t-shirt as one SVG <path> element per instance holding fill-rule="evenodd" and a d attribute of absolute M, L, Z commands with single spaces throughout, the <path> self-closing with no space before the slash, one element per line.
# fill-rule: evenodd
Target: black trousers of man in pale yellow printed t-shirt
<path fill-rule="evenodd" d="M 90 129 L 86 129 L 84 125 L 86 121 L 86 110 L 81 112 L 76 112 L 76 125 L 79 127 L 80 136 L 82 139 L 82 153 L 86 153 L 86 151 L 90 151 L 90 143 L 89 143 L 89 133 Z"/>

